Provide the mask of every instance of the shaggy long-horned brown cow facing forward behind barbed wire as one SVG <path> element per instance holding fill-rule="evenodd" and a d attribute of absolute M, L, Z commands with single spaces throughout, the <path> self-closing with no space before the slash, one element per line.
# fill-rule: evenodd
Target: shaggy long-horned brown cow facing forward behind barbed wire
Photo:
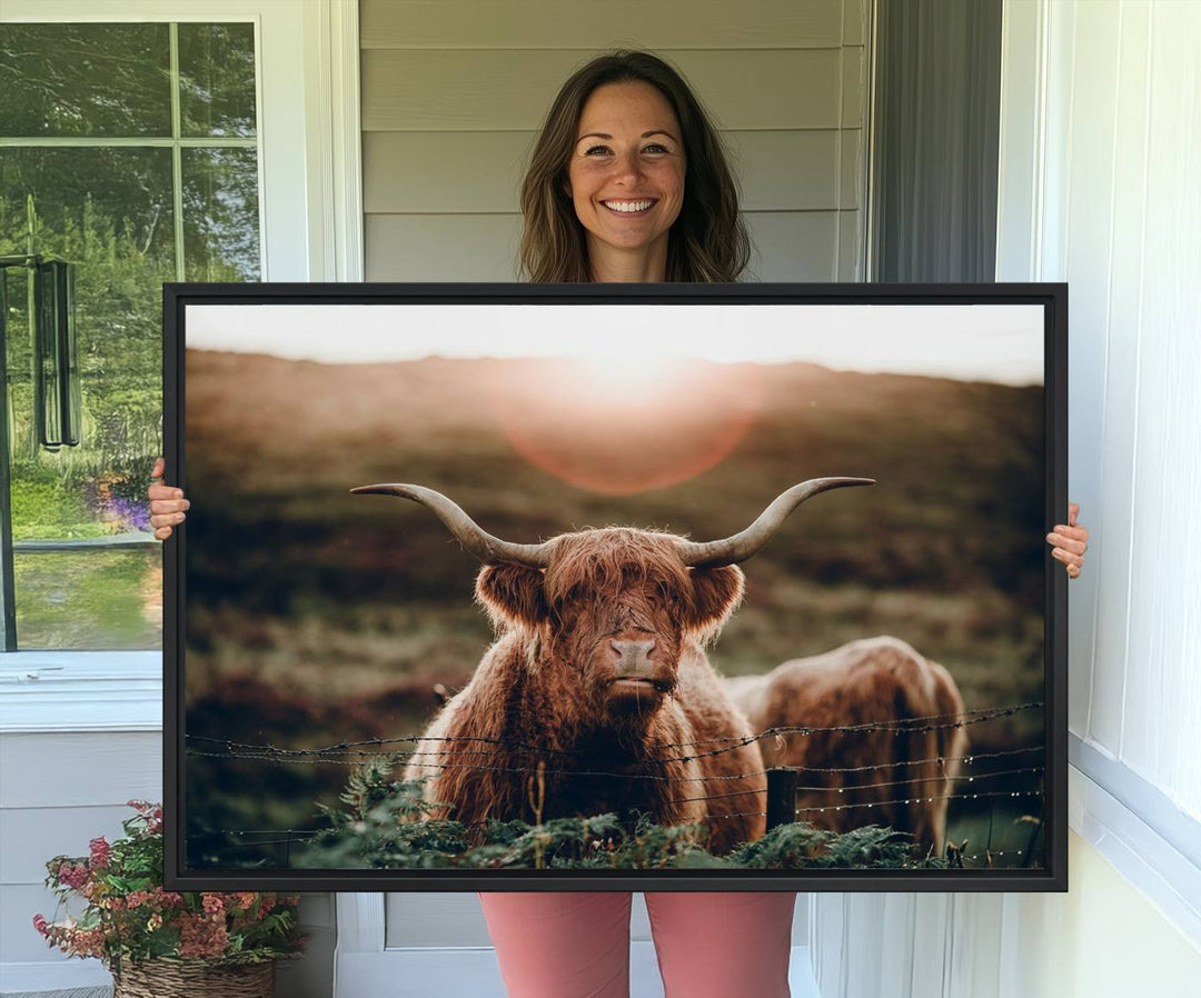
<path fill-rule="evenodd" d="M 531 776 L 543 763 L 543 820 L 638 808 L 664 825 L 707 825 L 715 851 L 760 837 L 763 759 L 753 740 L 735 743 L 753 733 L 704 645 L 742 597 L 736 562 L 805 500 L 861 484 L 871 479 L 795 485 L 747 530 L 705 544 L 633 527 L 512 544 L 430 489 L 354 489 L 434 510 L 484 563 L 476 596 L 498 631 L 424 733 L 405 778 L 432 775 L 426 800 L 452 805 L 458 820 L 530 820 Z M 730 741 L 711 741 L 721 739 Z M 699 741 L 709 745 L 688 745 Z M 730 751 L 704 754 L 715 743 Z"/>

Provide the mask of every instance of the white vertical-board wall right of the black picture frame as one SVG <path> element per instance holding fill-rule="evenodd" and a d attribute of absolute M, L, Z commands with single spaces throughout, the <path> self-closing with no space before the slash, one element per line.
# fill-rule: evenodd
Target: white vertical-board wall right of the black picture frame
<path fill-rule="evenodd" d="M 1052 4 L 1046 30 L 1041 226 L 1023 257 L 1010 215 L 998 256 L 1070 285 L 1069 491 L 1094 542 L 1069 727 L 1201 820 L 1201 6 Z"/>

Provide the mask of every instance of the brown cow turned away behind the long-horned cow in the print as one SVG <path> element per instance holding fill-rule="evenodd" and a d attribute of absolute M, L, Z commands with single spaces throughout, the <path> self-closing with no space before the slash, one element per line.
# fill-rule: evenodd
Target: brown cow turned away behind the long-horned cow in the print
<path fill-rule="evenodd" d="M 764 737 L 764 763 L 805 767 L 799 785 L 820 788 L 797 791 L 799 809 L 826 808 L 801 811 L 799 820 L 836 832 L 884 825 L 913 835 L 924 853 L 942 855 L 945 797 L 961 767 L 957 757 L 968 748 L 964 730 L 951 727 L 963 718 L 963 699 L 946 669 L 898 638 L 879 637 L 725 683 L 755 734 L 779 727 L 880 724 Z M 919 717 L 936 719 L 907 723 Z M 898 729 L 903 733 L 895 734 Z M 838 771 L 858 766 L 883 767 Z M 872 807 L 844 807 L 855 803 Z"/>

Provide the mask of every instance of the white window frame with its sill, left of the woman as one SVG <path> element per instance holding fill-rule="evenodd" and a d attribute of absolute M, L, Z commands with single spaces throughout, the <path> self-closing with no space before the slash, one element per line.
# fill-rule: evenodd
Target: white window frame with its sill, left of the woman
<path fill-rule="evenodd" d="M 4 23 L 255 25 L 263 281 L 362 281 L 357 0 L 5 0 Z M 0 733 L 161 730 L 161 651 L 0 653 Z"/>

